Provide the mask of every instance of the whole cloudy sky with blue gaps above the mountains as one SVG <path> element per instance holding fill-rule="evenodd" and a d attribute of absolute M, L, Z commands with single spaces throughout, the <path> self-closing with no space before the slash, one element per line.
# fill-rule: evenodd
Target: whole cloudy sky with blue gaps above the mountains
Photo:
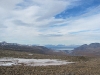
<path fill-rule="evenodd" d="M 0 41 L 100 42 L 100 0 L 0 0 Z"/>

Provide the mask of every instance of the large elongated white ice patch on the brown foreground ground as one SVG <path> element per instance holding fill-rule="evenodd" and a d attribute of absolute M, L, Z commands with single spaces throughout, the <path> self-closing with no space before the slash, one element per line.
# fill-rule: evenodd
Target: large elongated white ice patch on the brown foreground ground
<path fill-rule="evenodd" d="M 12 66 L 24 64 L 26 66 L 48 66 L 48 65 L 65 65 L 74 62 L 57 59 L 23 59 L 23 58 L 1 58 L 0 66 Z"/>

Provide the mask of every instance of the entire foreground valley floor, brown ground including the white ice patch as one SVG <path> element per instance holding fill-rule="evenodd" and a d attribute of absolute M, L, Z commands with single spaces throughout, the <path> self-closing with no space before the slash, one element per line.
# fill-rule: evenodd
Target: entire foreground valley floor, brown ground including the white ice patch
<path fill-rule="evenodd" d="M 0 63 L 7 63 L 0 66 L 0 75 L 100 75 L 100 57 L 30 55 L 27 52 L 0 50 L 0 58 Z M 75 63 L 65 64 L 67 61 Z M 39 66 L 32 66 L 37 62 Z M 58 62 L 60 65 L 55 65 Z"/>

